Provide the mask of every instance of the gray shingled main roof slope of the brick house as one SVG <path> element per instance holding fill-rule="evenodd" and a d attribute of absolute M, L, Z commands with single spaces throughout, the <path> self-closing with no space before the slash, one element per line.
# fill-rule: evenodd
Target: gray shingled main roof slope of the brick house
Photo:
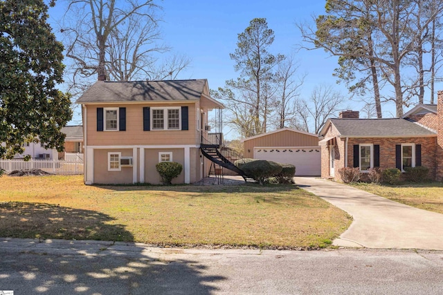
<path fill-rule="evenodd" d="M 330 119 L 342 136 L 347 137 L 422 137 L 436 135 L 419 124 L 393 119 Z"/>

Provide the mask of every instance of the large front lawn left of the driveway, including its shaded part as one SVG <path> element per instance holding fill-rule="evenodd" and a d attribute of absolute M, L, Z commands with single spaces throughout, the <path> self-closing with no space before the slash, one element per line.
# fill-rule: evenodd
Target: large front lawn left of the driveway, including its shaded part
<path fill-rule="evenodd" d="M 352 221 L 293 185 L 96 187 L 82 176 L 3 176 L 0 187 L 3 237 L 318 249 Z"/>

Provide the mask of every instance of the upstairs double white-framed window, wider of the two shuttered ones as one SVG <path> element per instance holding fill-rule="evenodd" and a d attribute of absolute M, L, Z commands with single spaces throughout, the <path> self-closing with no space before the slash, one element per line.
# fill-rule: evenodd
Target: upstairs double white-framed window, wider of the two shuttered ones
<path fill-rule="evenodd" d="M 180 130 L 181 113 L 176 108 L 151 108 L 152 130 Z"/>

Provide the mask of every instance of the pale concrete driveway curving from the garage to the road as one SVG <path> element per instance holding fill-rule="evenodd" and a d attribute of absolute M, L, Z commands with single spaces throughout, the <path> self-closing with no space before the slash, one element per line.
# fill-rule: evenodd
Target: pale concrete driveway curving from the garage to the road
<path fill-rule="evenodd" d="M 353 218 L 334 245 L 344 247 L 443 250 L 443 214 L 413 208 L 320 178 L 295 178 L 314 193 Z"/>

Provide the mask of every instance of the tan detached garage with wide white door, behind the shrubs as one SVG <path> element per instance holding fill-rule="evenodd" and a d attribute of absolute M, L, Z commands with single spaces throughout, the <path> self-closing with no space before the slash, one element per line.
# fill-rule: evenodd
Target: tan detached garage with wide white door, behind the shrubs
<path fill-rule="evenodd" d="M 296 175 L 321 173 L 321 153 L 316 134 L 284 128 L 242 140 L 244 158 L 271 160 L 296 166 Z"/>

